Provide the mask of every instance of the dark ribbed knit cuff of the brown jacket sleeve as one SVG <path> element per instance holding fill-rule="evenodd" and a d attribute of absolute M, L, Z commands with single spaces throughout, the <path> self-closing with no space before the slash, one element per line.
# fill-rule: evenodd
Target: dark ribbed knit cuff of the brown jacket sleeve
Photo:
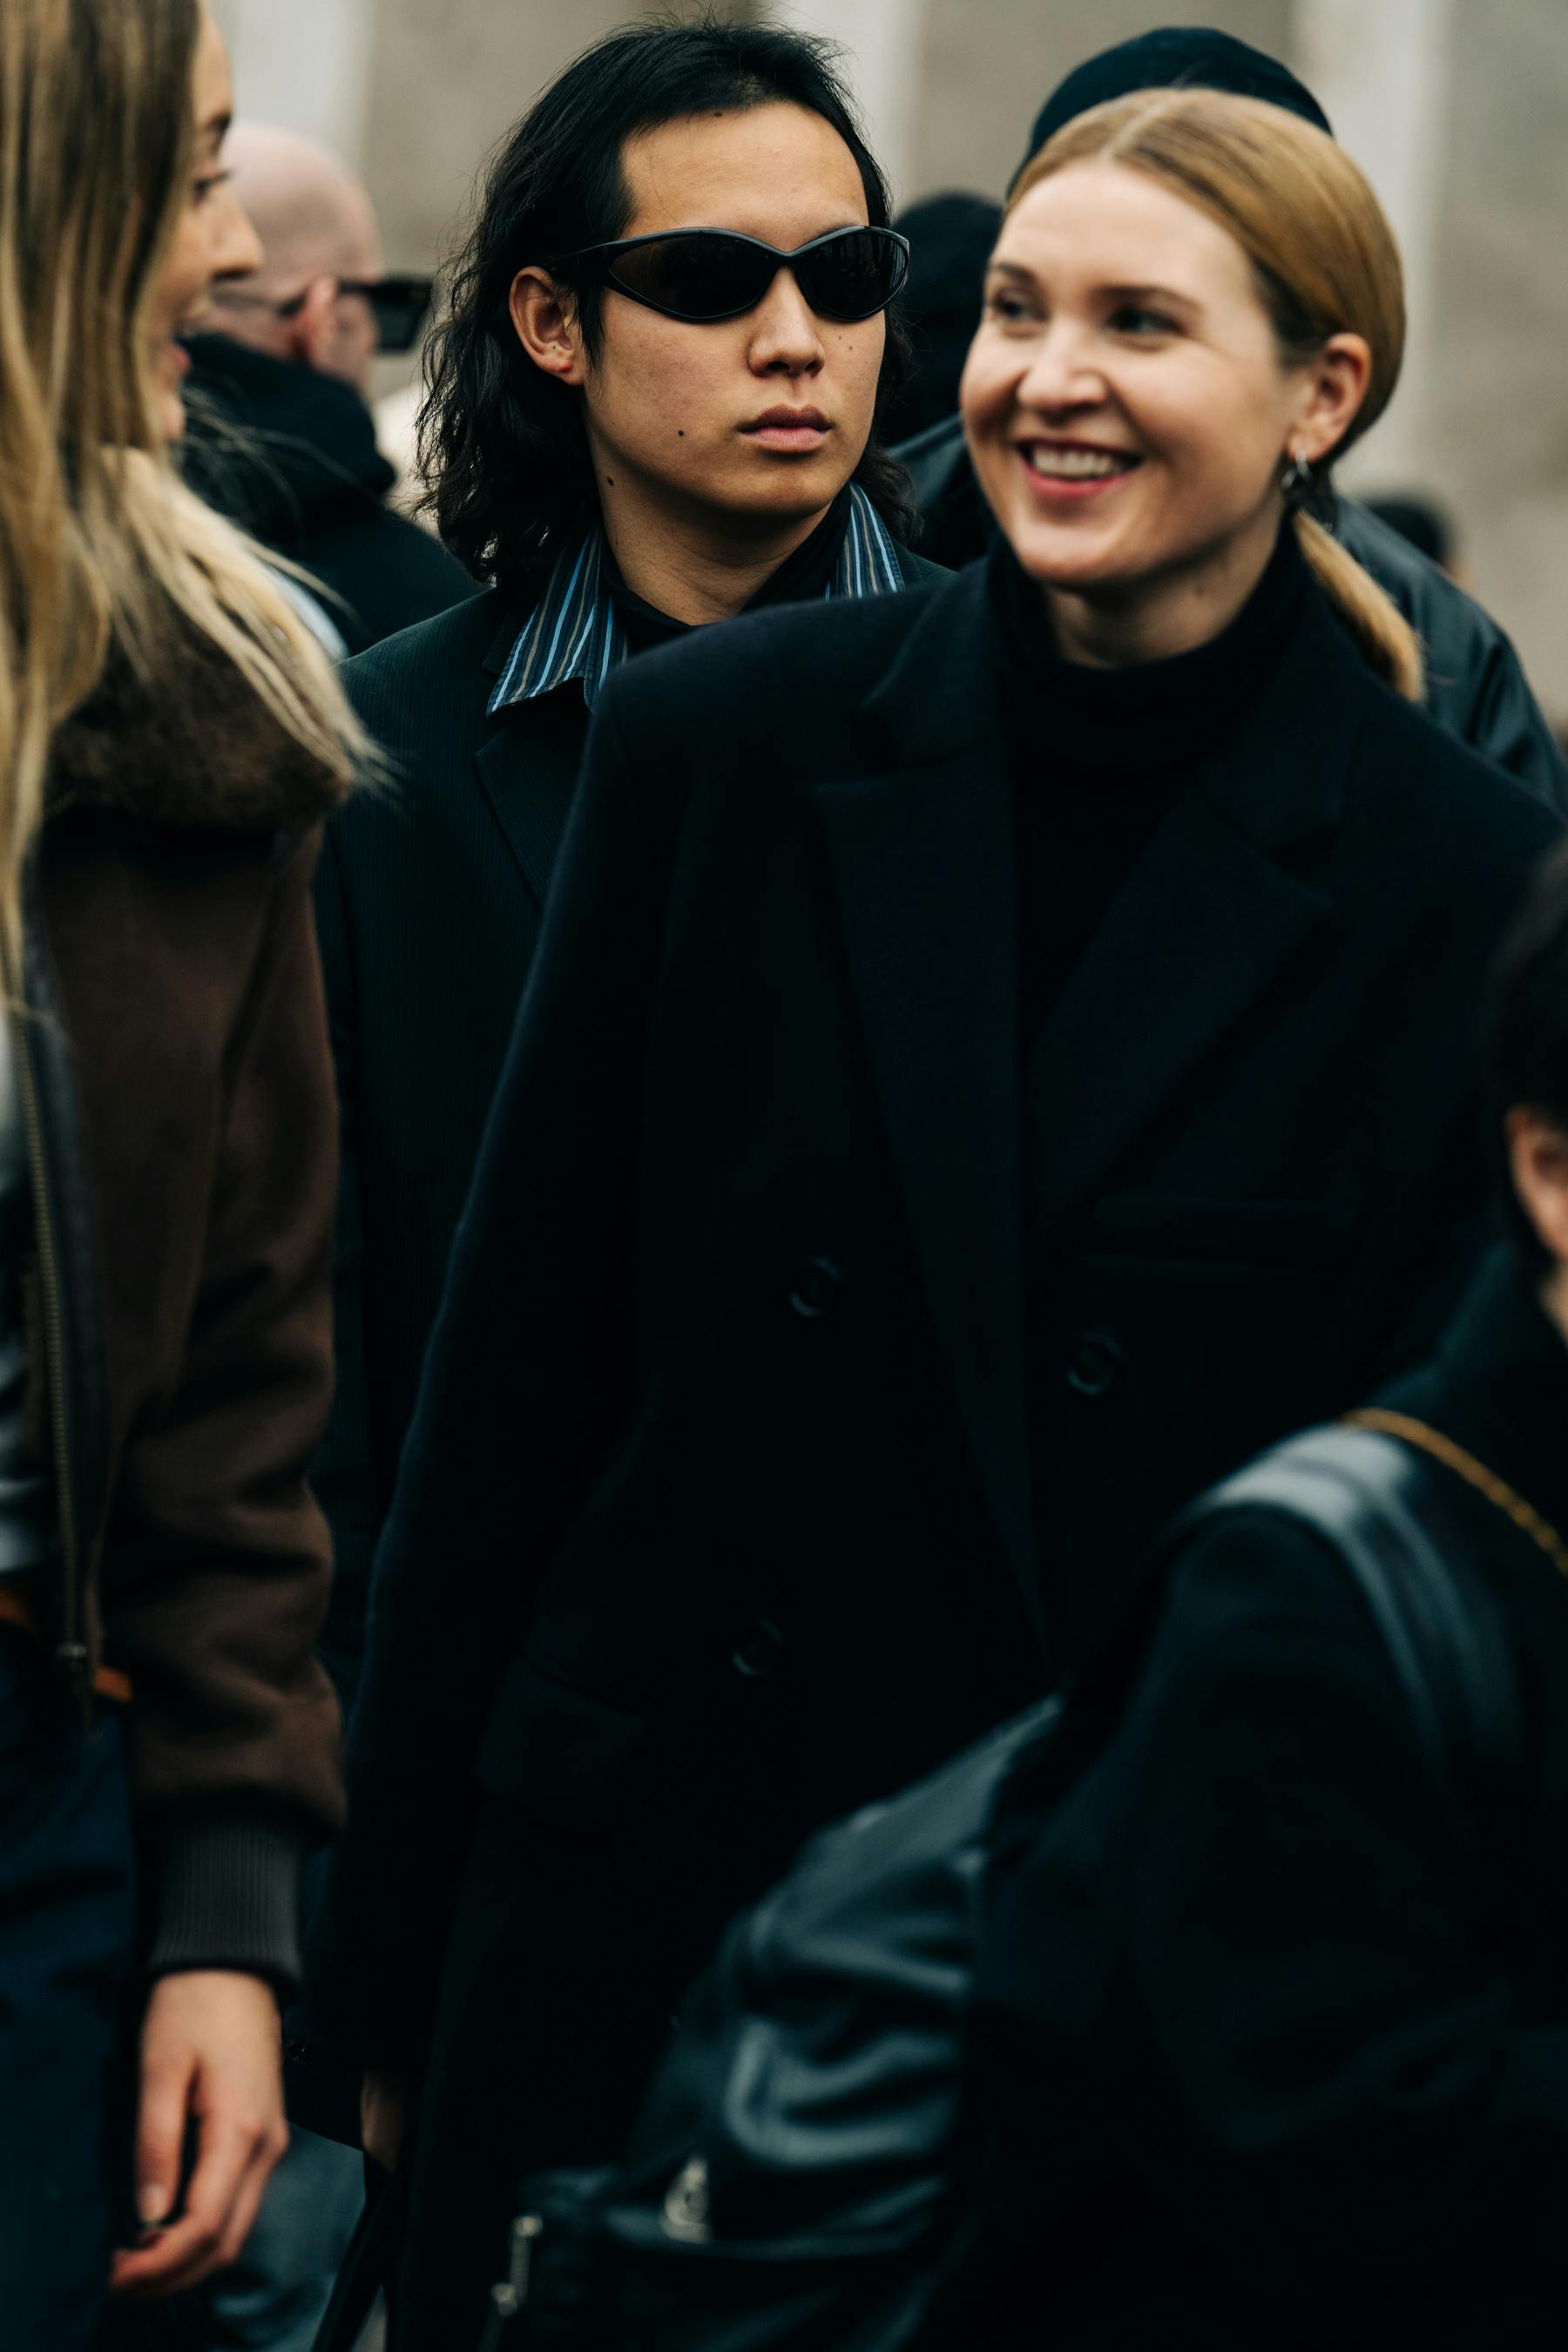
<path fill-rule="evenodd" d="M 268 1804 L 172 1811 L 148 1844 L 150 1976 L 237 1969 L 280 1999 L 299 1990 L 299 1875 L 308 1832 Z"/>

